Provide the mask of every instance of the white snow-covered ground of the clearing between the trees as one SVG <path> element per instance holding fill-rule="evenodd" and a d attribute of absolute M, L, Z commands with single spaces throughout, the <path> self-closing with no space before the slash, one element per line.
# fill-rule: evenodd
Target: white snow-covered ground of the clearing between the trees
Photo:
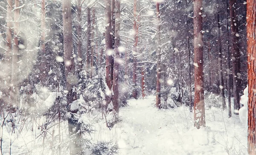
<path fill-rule="evenodd" d="M 112 140 L 119 155 L 247 154 L 247 129 L 238 115 L 228 118 L 227 110 L 206 107 L 206 127 L 196 129 L 189 107 L 158 110 L 154 99 L 129 100 L 119 111 L 122 121 L 111 130 L 97 123 L 93 140 Z"/>

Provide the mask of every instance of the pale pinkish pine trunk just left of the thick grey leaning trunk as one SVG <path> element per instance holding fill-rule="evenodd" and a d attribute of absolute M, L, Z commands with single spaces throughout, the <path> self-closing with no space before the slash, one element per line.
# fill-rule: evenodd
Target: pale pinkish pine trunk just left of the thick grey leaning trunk
<path fill-rule="evenodd" d="M 41 62 L 41 81 L 46 84 L 47 68 L 46 68 L 46 51 L 45 51 L 45 0 L 42 0 L 42 15 L 41 15 L 41 49 L 42 49 L 42 62 Z"/>

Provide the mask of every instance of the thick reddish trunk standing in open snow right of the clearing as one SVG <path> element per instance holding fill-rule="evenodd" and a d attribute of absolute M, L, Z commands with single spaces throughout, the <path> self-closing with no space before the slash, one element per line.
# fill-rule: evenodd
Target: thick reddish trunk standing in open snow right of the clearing
<path fill-rule="evenodd" d="M 203 17 L 202 0 L 194 0 L 194 52 L 195 52 L 195 102 L 194 125 L 205 126 L 204 112 L 204 57 L 203 57 Z"/>

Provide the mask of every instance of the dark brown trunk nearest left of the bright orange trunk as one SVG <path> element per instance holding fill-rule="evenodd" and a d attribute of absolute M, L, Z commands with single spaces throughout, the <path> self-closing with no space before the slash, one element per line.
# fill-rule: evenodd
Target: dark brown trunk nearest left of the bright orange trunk
<path fill-rule="evenodd" d="M 241 64 L 239 51 L 239 30 L 237 26 L 237 19 L 235 14 L 236 0 L 230 0 L 230 18 L 231 18 L 231 45 L 232 45 L 232 62 L 233 62 L 233 92 L 234 92 L 234 114 L 238 115 L 240 109 L 240 95 L 241 92 Z"/>

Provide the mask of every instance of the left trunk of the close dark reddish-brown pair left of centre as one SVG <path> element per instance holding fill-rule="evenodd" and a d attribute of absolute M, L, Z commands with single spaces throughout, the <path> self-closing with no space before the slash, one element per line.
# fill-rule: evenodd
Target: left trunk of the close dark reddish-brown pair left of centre
<path fill-rule="evenodd" d="M 106 42 L 106 82 L 109 90 L 113 84 L 113 46 L 111 35 L 111 0 L 105 0 L 105 42 Z"/>

